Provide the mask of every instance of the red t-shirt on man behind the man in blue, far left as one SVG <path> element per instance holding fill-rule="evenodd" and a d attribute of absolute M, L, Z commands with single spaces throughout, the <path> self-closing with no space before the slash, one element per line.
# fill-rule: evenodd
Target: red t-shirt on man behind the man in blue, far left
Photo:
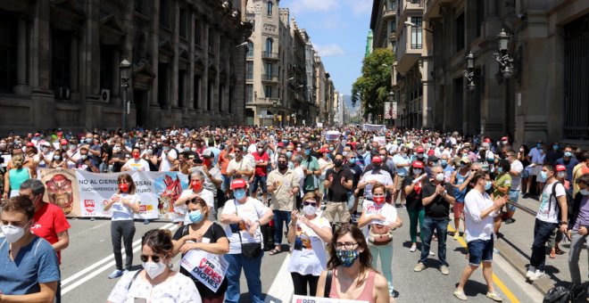
<path fill-rule="evenodd" d="M 43 204 L 43 207 L 35 212 L 33 217 L 35 224 L 30 228 L 30 232 L 53 245 L 59 241 L 57 233 L 67 231 L 71 225 L 68 223 L 68 219 L 65 218 L 63 210 L 57 205 L 46 202 Z M 57 251 L 57 259 L 62 264 L 61 251 Z"/>

